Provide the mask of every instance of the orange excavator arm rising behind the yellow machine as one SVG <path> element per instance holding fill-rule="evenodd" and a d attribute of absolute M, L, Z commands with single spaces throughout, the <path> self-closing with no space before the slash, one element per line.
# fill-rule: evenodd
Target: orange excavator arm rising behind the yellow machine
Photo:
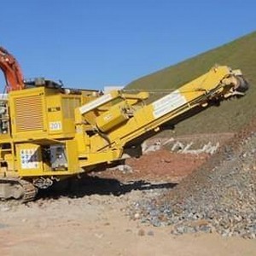
<path fill-rule="evenodd" d="M 0 68 L 3 71 L 7 91 L 22 90 L 25 87 L 20 65 L 15 57 L 0 46 Z"/>

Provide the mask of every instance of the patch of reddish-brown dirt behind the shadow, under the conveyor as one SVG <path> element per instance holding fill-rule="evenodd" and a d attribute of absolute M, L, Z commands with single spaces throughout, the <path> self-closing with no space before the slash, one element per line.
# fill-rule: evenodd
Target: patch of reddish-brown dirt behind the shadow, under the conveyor
<path fill-rule="evenodd" d="M 110 169 L 97 173 L 99 177 L 114 177 L 122 182 L 144 180 L 148 182 L 178 183 L 209 158 L 208 154 L 177 154 L 160 149 L 144 154 L 140 158 L 131 158 L 125 161 L 131 166 L 132 172 L 120 172 Z"/>

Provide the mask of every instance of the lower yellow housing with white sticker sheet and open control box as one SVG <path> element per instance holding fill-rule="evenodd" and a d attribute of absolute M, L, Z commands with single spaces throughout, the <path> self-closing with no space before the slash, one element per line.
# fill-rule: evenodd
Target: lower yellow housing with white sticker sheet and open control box
<path fill-rule="evenodd" d="M 75 141 L 44 145 L 20 143 L 16 144 L 16 154 L 20 177 L 72 175 L 82 172 Z"/>

